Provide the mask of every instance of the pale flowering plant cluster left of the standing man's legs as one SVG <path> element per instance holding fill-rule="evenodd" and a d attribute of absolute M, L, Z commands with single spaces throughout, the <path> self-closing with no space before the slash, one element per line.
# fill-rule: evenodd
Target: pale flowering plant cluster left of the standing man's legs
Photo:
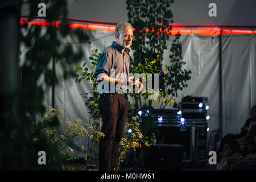
<path fill-rule="evenodd" d="M 46 132 L 49 142 L 55 144 L 59 148 L 59 152 L 64 152 L 66 158 L 71 156 L 76 156 L 78 152 L 85 151 L 85 147 L 82 146 L 81 140 L 88 137 L 95 142 L 96 146 L 100 142 L 101 137 L 105 137 L 104 133 L 100 131 L 101 122 L 98 123 L 85 123 L 82 119 L 77 118 L 75 121 L 63 121 L 63 116 L 65 115 L 66 106 L 64 105 L 61 109 L 55 110 L 52 107 L 47 107 L 46 113 L 36 115 L 36 122 L 51 122 L 58 121 L 63 123 L 63 133 L 59 133 L 59 130 L 53 127 L 45 127 L 44 131 Z M 48 125 L 46 125 L 48 126 Z M 51 126 L 51 125 L 50 125 Z M 80 140 L 80 147 L 75 154 L 71 148 L 73 142 Z M 34 140 L 36 142 L 36 139 Z"/>

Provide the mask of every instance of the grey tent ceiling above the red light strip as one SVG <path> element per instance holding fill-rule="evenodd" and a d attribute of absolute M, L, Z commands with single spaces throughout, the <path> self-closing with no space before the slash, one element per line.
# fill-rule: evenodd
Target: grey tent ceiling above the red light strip
<path fill-rule="evenodd" d="M 216 3 L 217 16 L 210 17 L 209 3 Z M 69 19 L 117 24 L 128 20 L 126 0 L 69 0 Z M 175 0 L 171 6 L 178 26 L 218 26 L 256 28 L 254 0 Z M 27 5 L 22 15 L 28 15 Z"/>

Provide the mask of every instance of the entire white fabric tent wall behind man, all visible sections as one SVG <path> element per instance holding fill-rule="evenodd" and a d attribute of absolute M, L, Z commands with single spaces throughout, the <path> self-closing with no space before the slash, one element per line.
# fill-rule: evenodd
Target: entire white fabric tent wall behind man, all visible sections
<path fill-rule="evenodd" d="M 92 50 L 103 51 L 105 47 L 112 44 L 114 40 L 113 31 L 89 30 L 90 40 L 86 43 L 72 43 L 73 46 L 80 46 L 84 49 L 85 59 L 82 65 L 87 62 L 90 68 L 88 57 Z M 163 64 L 169 63 L 170 47 L 174 36 L 167 43 L 167 50 L 164 51 Z M 188 87 L 178 92 L 175 101 L 179 103 L 181 98 L 187 95 L 195 97 L 208 97 L 210 115 L 209 134 L 220 127 L 220 78 L 219 78 L 219 35 L 181 35 L 183 46 L 184 69 L 191 69 L 191 80 Z M 227 133 L 238 133 L 240 127 L 250 117 L 250 108 L 256 104 L 256 75 L 255 75 L 255 35 L 222 35 L 222 135 Z M 22 57 L 24 59 L 25 49 L 21 46 Z M 131 51 L 130 55 L 133 55 Z M 23 60 L 24 61 L 24 60 Z M 75 65 L 74 65 L 75 68 Z M 62 70 L 56 65 L 57 75 L 61 75 Z M 43 82 L 40 80 L 39 82 Z M 72 77 L 63 80 L 59 76 L 59 85 L 55 88 L 55 108 L 59 109 L 65 102 L 67 104 L 64 121 L 75 121 L 80 118 L 89 122 L 89 109 L 86 108 L 85 99 L 80 95 L 89 93 L 91 85 L 87 81 L 81 84 L 75 83 Z M 46 106 L 51 106 L 52 89 L 46 88 Z M 131 101 L 131 100 L 130 100 Z M 153 105 L 158 109 L 158 104 Z M 170 109 L 172 106 L 167 106 Z M 84 145 L 87 142 L 84 141 Z M 81 154 L 81 156 L 84 156 Z"/>

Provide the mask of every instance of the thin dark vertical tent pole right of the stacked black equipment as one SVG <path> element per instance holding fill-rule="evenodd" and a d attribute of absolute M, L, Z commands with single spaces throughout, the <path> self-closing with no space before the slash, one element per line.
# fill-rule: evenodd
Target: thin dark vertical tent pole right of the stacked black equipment
<path fill-rule="evenodd" d="M 222 107 L 222 28 L 220 30 L 220 36 L 219 36 L 219 55 L 220 55 L 220 62 L 219 62 L 219 81 L 220 81 L 220 133 L 223 134 L 223 107 Z"/>

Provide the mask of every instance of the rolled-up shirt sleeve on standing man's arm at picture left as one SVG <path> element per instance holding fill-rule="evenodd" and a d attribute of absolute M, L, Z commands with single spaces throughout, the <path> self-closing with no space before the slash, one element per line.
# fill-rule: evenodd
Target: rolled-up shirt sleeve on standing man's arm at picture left
<path fill-rule="evenodd" d="M 94 76 L 97 78 L 100 73 L 105 73 L 109 75 L 111 67 L 111 55 L 108 51 L 104 51 L 97 59 L 96 71 L 94 72 Z"/>

